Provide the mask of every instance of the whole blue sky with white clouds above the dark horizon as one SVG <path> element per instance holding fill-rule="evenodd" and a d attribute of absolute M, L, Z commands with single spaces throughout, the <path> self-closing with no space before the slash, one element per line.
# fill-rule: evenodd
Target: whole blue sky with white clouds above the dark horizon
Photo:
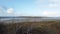
<path fill-rule="evenodd" d="M 0 16 L 60 17 L 60 0 L 0 0 Z"/>

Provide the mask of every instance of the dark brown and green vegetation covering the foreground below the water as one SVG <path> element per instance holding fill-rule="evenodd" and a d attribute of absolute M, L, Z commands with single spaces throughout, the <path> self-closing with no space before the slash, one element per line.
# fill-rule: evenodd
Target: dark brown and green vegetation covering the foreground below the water
<path fill-rule="evenodd" d="M 60 21 L 12 22 L 1 25 L 1 30 L 2 34 L 60 34 Z"/>

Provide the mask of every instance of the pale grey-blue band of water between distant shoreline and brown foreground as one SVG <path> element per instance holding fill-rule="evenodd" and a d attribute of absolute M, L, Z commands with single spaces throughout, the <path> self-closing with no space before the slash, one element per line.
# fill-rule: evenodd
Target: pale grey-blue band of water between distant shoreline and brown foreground
<path fill-rule="evenodd" d="M 49 20 L 60 20 L 60 18 L 2 18 L 0 22 L 26 22 L 26 21 L 49 21 Z"/>

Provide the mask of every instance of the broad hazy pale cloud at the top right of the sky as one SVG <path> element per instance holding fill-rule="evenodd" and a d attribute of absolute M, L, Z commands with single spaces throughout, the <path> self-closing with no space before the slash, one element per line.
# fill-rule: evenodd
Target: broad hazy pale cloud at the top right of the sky
<path fill-rule="evenodd" d="M 60 0 L 36 0 L 35 3 L 41 8 L 58 8 Z"/>

